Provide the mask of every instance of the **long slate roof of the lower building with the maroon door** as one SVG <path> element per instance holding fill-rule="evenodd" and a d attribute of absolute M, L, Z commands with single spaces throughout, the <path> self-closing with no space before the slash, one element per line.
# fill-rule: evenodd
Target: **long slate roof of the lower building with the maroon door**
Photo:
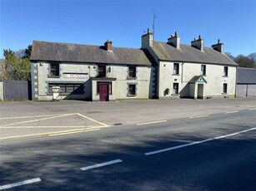
<path fill-rule="evenodd" d="M 31 61 L 65 61 L 105 64 L 151 66 L 153 57 L 147 50 L 104 46 L 79 45 L 60 42 L 33 42 Z"/>

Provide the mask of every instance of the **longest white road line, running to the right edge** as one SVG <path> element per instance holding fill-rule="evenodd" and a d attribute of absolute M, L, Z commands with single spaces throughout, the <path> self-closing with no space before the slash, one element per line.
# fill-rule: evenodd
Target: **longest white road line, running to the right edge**
<path fill-rule="evenodd" d="M 243 133 L 246 133 L 246 132 L 252 131 L 252 130 L 256 130 L 256 127 L 248 129 L 248 130 L 241 130 L 241 131 L 235 132 L 233 134 L 222 135 L 222 136 L 218 136 L 218 137 L 215 137 L 215 138 L 212 138 L 212 139 L 200 140 L 200 141 L 196 141 L 196 142 L 192 142 L 192 143 L 188 143 L 188 144 L 180 144 L 178 146 L 169 147 L 167 149 L 159 149 L 159 150 L 155 150 L 155 151 L 144 153 L 144 154 L 145 155 L 152 155 L 152 154 L 163 153 L 163 152 L 166 152 L 166 151 L 169 151 L 169 150 L 181 149 L 183 147 L 188 147 L 188 146 L 191 146 L 191 145 L 194 145 L 194 144 L 202 144 L 202 143 L 205 143 L 205 142 L 208 142 L 208 141 L 212 141 L 212 140 L 219 140 L 219 139 L 223 139 L 223 138 L 226 138 L 226 137 L 243 134 Z"/>

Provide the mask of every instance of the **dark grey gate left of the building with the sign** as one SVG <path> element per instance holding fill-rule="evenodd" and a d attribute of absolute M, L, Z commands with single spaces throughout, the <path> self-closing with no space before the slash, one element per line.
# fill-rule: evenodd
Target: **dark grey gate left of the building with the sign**
<path fill-rule="evenodd" d="M 3 100 L 31 100 L 31 82 L 4 81 Z"/>

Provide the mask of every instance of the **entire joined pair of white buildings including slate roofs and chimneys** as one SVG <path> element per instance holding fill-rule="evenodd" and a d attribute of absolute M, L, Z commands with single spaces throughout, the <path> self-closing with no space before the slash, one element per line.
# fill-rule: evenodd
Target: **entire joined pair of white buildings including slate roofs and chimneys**
<path fill-rule="evenodd" d="M 33 100 L 234 97 L 236 70 L 219 41 L 154 42 L 149 30 L 141 49 L 36 41 L 31 57 Z"/>

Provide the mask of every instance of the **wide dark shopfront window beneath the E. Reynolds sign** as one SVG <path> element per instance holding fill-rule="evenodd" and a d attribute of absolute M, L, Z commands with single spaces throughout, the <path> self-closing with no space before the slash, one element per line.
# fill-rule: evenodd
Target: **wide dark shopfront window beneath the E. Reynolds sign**
<path fill-rule="evenodd" d="M 57 83 L 49 83 L 48 92 L 53 93 L 53 86 L 60 87 L 60 93 L 66 94 L 83 94 L 83 84 L 57 84 Z"/>

